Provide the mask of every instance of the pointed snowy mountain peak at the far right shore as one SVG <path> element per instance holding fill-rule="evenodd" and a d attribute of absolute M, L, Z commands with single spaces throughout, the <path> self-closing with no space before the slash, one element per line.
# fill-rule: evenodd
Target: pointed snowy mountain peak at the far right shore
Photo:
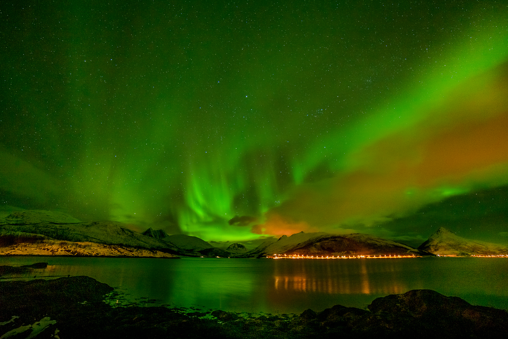
<path fill-rule="evenodd" d="M 418 249 L 449 257 L 508 255 L 508 247 L 506 246 L 465 239 L 442 227 L 434 232 Z"/>

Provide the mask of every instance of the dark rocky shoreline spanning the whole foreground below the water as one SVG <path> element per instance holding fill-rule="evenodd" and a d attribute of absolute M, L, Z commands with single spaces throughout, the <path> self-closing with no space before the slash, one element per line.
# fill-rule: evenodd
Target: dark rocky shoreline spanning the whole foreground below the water
<path fill-rule="evenodd" d="M 0 282 L 3 338 L 504 338 L 505 310 L 473 306 L 431 290 L 375 299 L 368 310 L 335 305 L 323 312 L 245 318 L 164 306 L 103 301 L 113 288 L 87 277 Z"/>

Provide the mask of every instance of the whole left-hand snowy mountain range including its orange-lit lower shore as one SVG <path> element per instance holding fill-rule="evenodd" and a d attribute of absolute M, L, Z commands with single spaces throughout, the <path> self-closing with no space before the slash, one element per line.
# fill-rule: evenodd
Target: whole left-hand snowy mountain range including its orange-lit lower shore
<path fill-rule="evenodd" d="M 243 257 L 242 251 L 215 248 L 198 237 L 169 236 L 152 228 L 141 234 L 118 221 L 83 222 L 44 210 L 17 210 L 0 217 L 0 255 L 174 257 L 166 253 Z"/>

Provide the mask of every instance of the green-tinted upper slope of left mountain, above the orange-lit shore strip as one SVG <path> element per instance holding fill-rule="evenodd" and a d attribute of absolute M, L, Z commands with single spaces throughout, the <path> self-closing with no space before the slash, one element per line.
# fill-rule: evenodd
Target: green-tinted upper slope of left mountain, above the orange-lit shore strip
<path fill-rule="evenodd" d="M 168 241 L 129 230 L 118 221 L 82 222 L 64 213 L 44 210 L 16 211 L 0 218 L 0 234 L 16 232 L 72 242 L 155 248 L 171 252 L 178 250 Z"/>

